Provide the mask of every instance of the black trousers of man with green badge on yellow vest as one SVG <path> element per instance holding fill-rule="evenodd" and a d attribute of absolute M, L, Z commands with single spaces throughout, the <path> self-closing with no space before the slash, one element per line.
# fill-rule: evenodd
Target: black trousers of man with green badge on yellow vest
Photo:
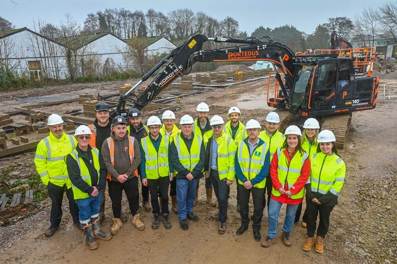
<path fill-rule="evenodd" d="M 250 223 L 250 218 L 248 218 L 248 203 L 250 202 L 250 193 L 252 193 L 252 201 L 254 203 L 254 215 L 253 220 L 254 223 L 252 228 L 254 230 L 260 229 L 260 223 L 262 222 L 263 216 L 263 206 L 264 206 L 264 189 L 259 189 L 253 187 L 251 189 L 245 189 L 244 185 L 238 184 L 238 188 L 240 190 L 240 216 L 241 216 L 241 225 L 248 227 Z"/>

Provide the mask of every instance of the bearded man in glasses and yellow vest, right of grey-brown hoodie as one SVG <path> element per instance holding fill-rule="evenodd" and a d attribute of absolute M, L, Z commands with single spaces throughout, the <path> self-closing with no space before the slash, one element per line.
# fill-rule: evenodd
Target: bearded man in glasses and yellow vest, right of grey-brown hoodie
<path fill-rule="evenodd" d="M 168 188 L 170 186 L 170 138 L 160 134 L 161 120 L 151 116 L 146 122 L 149 136 L 141 139 L 141 177 L 142 184 L 149 187 L 153 212 L 152 228 L 159 228 L 160 219 L 164 227 L 171 228 L 168 215 Z M 161 216 L 159 200 L 161 197 Z"/>

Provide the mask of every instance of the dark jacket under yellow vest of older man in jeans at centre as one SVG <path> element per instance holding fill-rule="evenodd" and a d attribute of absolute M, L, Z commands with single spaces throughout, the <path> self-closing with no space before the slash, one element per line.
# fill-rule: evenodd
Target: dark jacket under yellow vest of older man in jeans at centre
<path fill-rule="evenodd" d="M 180 133 L 180 135 L 190 153 L 190 148 L 192 146 L 193 138 L 195 137 L 195 135 L 192 132 L 192 137 L 190 139 L 185 138 L 182 132 Z M 200 147 L 200 160 L 192 171 L 193 177 L 202 178 L 204 176 L 201 172 L 202 169 L 204 168 L 204 158 L 205 158 L 205 148 L 204 148 L 204 142 L 202 141 Z M 178 151 L 176 150 L 176 145 L 175 145 L 175 139 L 171 143 L 171 164 L 174 170 L 178 172 L 178 174 L 176 175 L 176 179 L 186 180 L 187 179 L 186 175 L 188 175 L 190 171 L 187 170 L 185 167 L 183 167 L 183 165 L 179 162 Z"/>

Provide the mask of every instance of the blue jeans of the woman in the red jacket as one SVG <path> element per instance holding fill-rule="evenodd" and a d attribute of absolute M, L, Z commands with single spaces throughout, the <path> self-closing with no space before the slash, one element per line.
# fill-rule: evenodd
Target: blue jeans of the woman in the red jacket
<path fill-rule="evenodd" d="M 280 209 L 283 203 L 273 200 L 270 198 L 268 214 L 269 214 L 269 229 L 268 236 L 274 238 L 277 235 L 277 220 L 280 215 Z M 291 232 L 292 226 L 295 220 L 296 210 L 299 204 L 287 204 L 287 210 L 285 212 L 285 220 L 283 226 L 283 232 Z"/>

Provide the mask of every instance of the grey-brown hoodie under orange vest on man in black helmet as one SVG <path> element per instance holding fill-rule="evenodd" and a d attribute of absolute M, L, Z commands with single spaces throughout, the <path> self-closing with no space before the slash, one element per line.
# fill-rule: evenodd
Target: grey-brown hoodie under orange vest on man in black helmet
<path fill-rule="evenodd" d="M 129 156 L 129 143 L 128 134 L 124 136 L 122 139 L 117 139 L 114 133 L 112 133 L 111 137 L 114 140 L 114 167 L 110 161 L 110 150 L 109 145 L 105 142 L 102 144 L 102 158 L 112 177 L 112 181 L 118 181 L 117 177 L 120 174 L 127 174 L 128 179 L 132 179 L 135 177 L 134 171 L 141 164 L 141 150 L 139 148 L 138 141 L 131 137 L 131 140 L 134 141 L 134 160 L 131 163 Z"/>

